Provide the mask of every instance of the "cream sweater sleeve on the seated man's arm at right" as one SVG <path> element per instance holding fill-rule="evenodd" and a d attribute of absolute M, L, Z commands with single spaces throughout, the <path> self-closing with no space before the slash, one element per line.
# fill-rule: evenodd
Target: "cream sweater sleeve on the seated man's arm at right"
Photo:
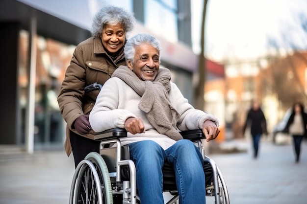
<path fill-rule="evenodd" d="M 178 87 L 172 83 L 173 103 L 176 104 L 176 109 L 180 115 L 177 127 L 181 131 L 202 129 L 206 120 L 211 120 L 215 125 L 219 126 L 219 120 L 212 114 L 205 113 L 201 110 L 194 109 L 189 104 L 188 100 L 183 97 Z"/>

